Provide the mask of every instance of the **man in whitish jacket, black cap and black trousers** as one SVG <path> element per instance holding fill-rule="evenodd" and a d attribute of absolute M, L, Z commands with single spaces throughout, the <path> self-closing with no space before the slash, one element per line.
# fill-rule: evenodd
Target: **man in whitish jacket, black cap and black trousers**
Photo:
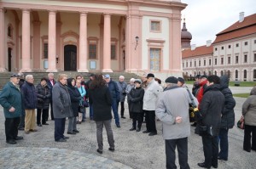
<path fill-rule="evenodd" d="M 148 136 L 157 134 L 155 127 L 155 104 L 158 99 L 159 93 L 162 91 L 158 82 L 154 81 L 154 74 L 148 73 L 147 76 L 148 86 L 145 88 L 143 97 L 143 110 L 146 113 L 146 127 L 147 130 L 143 133 L 148 133 Z"/>

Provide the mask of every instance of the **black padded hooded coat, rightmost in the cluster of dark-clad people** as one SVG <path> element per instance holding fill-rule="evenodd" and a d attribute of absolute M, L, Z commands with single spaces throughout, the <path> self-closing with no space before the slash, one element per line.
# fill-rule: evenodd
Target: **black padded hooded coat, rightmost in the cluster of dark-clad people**
<path fill-rule="evenodd" d="M 229 88 L 229 77 L 220 77 L 221 93 L 224 94 L 225 104 L 224 110 L 221 116 L 221 128 L 233 128 L 235 125 L 235 111 L 236 100 L 233 98 L 233 94 Z"/>

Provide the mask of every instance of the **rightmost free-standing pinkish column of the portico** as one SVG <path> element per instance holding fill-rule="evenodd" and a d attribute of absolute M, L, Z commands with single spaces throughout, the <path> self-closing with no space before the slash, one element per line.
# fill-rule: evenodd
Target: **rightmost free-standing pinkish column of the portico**
<path fill-rule="evenodd" d="M 111 16 L 110 14 L 104 14 L 104 38 L 103 38 L 103 69 L 102 72 L 113 72 L 111 70 Z"/>

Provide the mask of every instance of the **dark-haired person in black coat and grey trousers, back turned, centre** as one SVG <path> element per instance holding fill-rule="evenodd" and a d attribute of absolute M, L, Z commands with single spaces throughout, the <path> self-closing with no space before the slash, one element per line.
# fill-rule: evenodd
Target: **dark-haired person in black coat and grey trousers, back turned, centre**
<path fill-rule="evenodd" d="M 96 151 L 99 154 L 102 154 L 103 151 L 103 125 L 108 135 L 109 150 L 114 151 L 113 131 L 111 128 L 111 104 L 113 100 L 102 75 L 96 75 L 95 79 L 90 82 L 89 100 L 93 106 L 93 120 L 96 121 L 96 138 L 98 143 Z"/>

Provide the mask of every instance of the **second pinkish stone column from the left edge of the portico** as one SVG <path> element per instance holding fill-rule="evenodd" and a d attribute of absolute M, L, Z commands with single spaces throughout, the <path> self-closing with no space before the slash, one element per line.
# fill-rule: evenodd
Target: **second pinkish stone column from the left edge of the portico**
<path fill-rule="evenodd" d="M 22 9 L 22 65 L 21 71 L 29 72 L 31 69 L 31 44 L 30 44 L 30 9 Z"/>

